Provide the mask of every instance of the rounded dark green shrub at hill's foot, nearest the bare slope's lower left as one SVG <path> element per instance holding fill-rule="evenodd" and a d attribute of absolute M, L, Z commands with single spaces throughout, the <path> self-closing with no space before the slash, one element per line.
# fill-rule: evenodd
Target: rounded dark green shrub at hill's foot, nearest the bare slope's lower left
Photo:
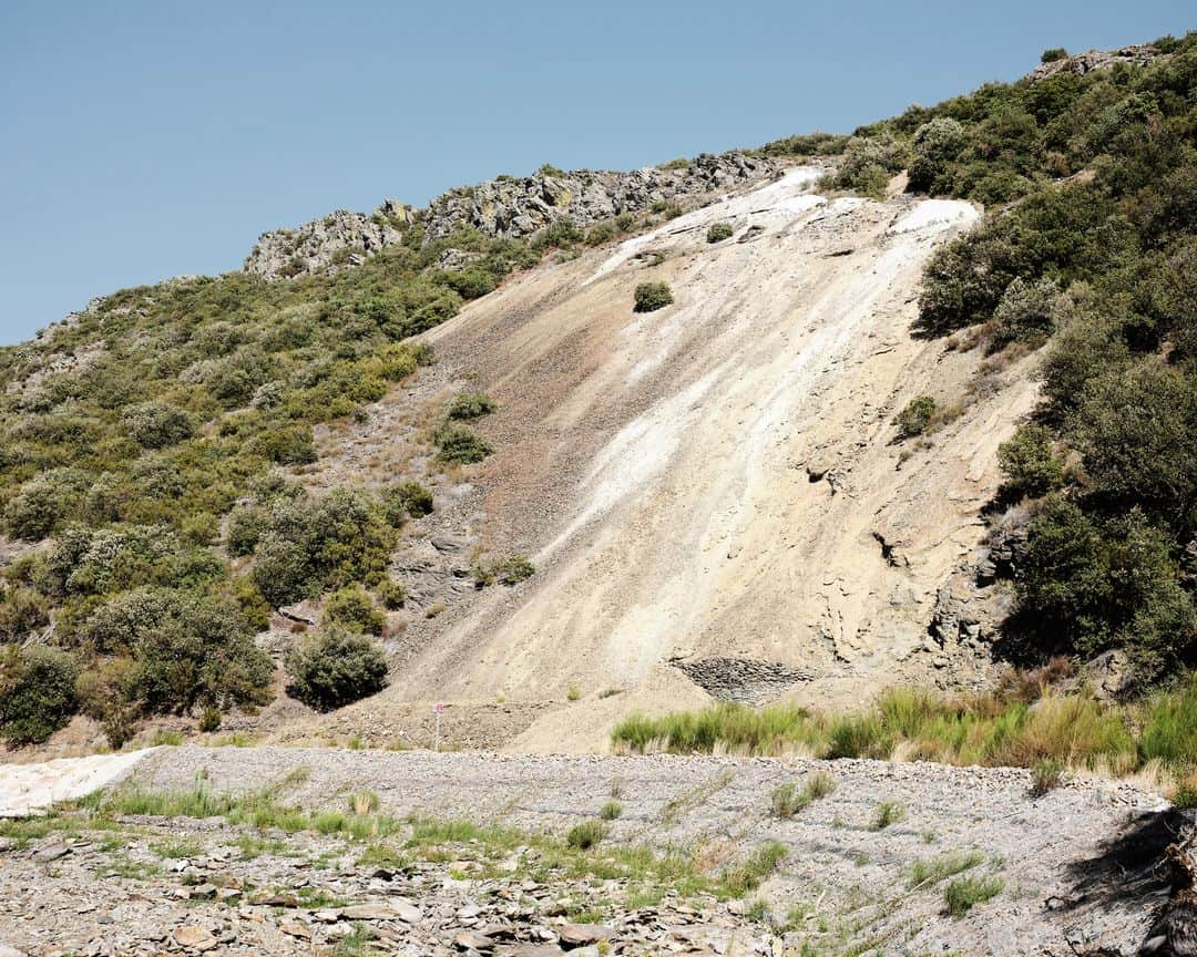
<path fill-rule="evenodd" d="M 317 711 L 332 711 L 381 691 L 387 658 L 366 635 L 332 628 L 310 634 L 286 656 L 287 694 Z"/>

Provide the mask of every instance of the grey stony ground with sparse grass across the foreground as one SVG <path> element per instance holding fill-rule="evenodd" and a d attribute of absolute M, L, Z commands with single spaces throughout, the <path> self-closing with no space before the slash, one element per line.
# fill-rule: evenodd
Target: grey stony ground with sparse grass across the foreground
<path fill-rule="evenodd" d="M 778 786 L 819 774 L 828 793 L 778 813 Z M 1129 955 L 1183 824 L 1125 785 L 1035 797 L 1013 769 L 159 748 L 99 798 L 0 825 L 0 944 Z"/>

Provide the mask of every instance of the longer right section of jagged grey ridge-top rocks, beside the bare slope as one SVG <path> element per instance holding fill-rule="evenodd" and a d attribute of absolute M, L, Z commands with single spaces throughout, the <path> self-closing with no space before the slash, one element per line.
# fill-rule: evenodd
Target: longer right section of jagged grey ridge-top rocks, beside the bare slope
<path fill-rule="evenodd" d="M 620 213 L 761 179 L 779 169 L 772 159 L 742 153 L 703 154 L 687 166 L 634 172 L 537 171 L 454 189 L 429 207 L 426 238 L 442 239 L 461 226 L 484 236 L 529 236 L 561 219 L 585 228 Z"/>

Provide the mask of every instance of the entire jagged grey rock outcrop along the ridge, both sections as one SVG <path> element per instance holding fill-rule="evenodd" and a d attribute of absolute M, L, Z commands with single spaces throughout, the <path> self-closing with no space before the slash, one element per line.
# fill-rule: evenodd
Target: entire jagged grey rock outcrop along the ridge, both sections
<path fill-rule="evenodd" d="M 303 274 L 332 274 L 403 240 L 423 224 L 423 242 L 444 239 L 462 227 L 487 237 L 518 238 L 561 219 L 579 228 L 619 215 L 642 213 L 654 203 L 693 200 L 712 190 L 765 178 L 779 170 L 777 160 L 743 153 L 703 154 L 683 166 L 650 166 L 633 172 L 542 167 L 531 176 L 500 176 L 475 187 L 460 187 L 413 209 L 387 200 L 372 214 L 339 209 L 293 230 L 262 233 L 245 272 L 267 280 Z M 455 250 L 449 250 L 455 252 Z M 443 268 L 460 268 L 460 255 Z"/>

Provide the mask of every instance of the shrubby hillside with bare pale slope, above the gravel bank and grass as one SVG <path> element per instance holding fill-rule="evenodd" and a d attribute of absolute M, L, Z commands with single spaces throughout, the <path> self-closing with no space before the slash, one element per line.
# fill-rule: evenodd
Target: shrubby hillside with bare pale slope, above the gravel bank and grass
<path fill-rule="evenodd" d="M 340 211 L 5 349 L 0 732 L 1190 688 L 1192 47 Z"/>

